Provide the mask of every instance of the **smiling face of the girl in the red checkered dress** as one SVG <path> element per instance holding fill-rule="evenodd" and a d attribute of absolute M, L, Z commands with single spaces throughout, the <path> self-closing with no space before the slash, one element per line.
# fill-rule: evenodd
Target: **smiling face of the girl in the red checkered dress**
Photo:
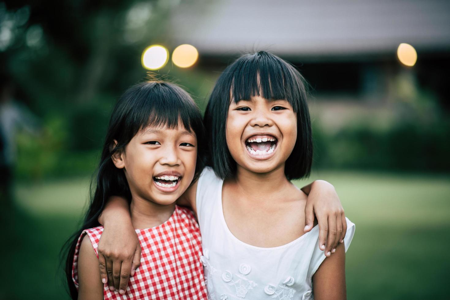
<path fill-rule="evenodd" d="M 123 168 L 133 198 L 157 204 L 175 202 L 195 174 L 197 139 L 180 122 L 178 128 L 148 126 L 140 130 L 112 160 Z"/>

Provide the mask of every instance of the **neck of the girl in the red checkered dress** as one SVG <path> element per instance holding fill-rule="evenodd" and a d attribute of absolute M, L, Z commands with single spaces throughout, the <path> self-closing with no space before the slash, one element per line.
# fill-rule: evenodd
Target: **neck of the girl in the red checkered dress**
<path fill-rule="evenodd" d="M 136 229 L 152 228 L 166 222 L 174 210 L 175 202 L 162 205 L 133 195 L 130 204 L 131 222 Z"/>

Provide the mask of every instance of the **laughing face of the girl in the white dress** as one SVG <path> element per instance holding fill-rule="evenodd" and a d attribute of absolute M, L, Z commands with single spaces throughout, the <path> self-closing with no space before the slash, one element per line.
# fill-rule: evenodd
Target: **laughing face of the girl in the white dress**
<path fill-rule="evenodd" d="M 260 96 L 231 102 L 225 131 L 227 146 L 238 168 L 266 173 L 291 155 L 297 140 L 297 116 L 286 100 Z"/>

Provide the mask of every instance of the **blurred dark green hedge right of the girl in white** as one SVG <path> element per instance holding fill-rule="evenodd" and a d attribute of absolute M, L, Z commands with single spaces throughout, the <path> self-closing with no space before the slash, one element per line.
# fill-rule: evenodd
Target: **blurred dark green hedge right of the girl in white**
<path fill-rule="evenodd" d="M 402 121 L 384 129 L 375 129 L 367 123 L 349 123 L 333 133 L 313 126 L 315 166 L 448 172 L 449 136 L 449 120 L 425 126 Z"/>

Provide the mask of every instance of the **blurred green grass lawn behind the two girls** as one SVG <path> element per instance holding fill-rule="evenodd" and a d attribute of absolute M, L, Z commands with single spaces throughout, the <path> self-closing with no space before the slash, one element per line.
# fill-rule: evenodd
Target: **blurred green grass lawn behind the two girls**
<path fill-rule="evenodd" d="M 325 171 L 311 176 L 318 178 L 336 187 L 356 224 L 347 252 L 348 299 L 448 299 L 449 176 Z M 7 234 L 2 247 L 0 299 L 68 298 L 58 254 L 77 226 L 87 187 L 88 178 L 17 184 L 7 216 L 14 235 Z"/>

